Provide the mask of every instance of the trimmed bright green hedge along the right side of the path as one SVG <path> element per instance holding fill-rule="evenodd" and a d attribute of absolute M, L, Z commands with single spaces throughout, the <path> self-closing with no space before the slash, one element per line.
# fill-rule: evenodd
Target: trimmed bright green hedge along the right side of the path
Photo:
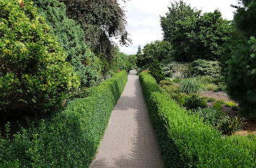
<path fill-rule="evenodd" d="M 166 167 L 255 167 L 255 149 L 236 146 L 180 107 L 150 74 L 140 83 Z"/>

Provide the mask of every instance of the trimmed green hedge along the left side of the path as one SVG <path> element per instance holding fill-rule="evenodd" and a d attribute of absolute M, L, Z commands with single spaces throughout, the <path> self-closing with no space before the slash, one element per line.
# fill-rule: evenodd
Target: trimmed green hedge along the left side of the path
<path fill-rule="evenodd" d="M 88 167 L 126 82 L 121 71 L 12 142 L 1 138 L 0 167 Z"/>

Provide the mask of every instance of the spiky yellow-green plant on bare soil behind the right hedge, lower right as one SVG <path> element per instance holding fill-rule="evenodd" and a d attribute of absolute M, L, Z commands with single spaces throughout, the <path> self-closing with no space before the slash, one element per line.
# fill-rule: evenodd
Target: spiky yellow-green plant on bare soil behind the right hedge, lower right
<path fill-rule="evenodd" d="M 230 118 L 229 115 L 224 115 L 223 118 L 218 123 L 218 128 L 222 131 L 224 135 L 231 135 L 235 131 L 238 131 L 242 128 L 242 125 L 245 123 L 243 122 L 245 118 Z"/>

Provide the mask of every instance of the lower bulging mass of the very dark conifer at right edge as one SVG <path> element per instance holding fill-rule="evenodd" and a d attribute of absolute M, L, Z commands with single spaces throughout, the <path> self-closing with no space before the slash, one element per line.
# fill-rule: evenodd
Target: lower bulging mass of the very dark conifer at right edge
<path fill-rule="evenodd" d="M 226 76 L 226 91 L 239 103 L 241 115 L 256 115 L 256 39 L 240 44 L 232 53 Z"/>

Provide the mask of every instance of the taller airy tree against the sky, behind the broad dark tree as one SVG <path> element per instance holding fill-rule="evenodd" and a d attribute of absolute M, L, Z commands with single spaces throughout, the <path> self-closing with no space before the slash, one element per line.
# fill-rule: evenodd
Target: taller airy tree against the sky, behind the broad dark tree
<path fill-rule="evenodd" d="M 171 3 L 171 7 L 168 7 L 166 17 L 161 17 L 161 27 L 163 30 L 163 39 L 174 42 L 174 31 L 178 29 L 177 21 L 183 21 L 186 17 L 199 17 L 200 11 L 192 9 L 184 1 L 175 1 Z"/>

